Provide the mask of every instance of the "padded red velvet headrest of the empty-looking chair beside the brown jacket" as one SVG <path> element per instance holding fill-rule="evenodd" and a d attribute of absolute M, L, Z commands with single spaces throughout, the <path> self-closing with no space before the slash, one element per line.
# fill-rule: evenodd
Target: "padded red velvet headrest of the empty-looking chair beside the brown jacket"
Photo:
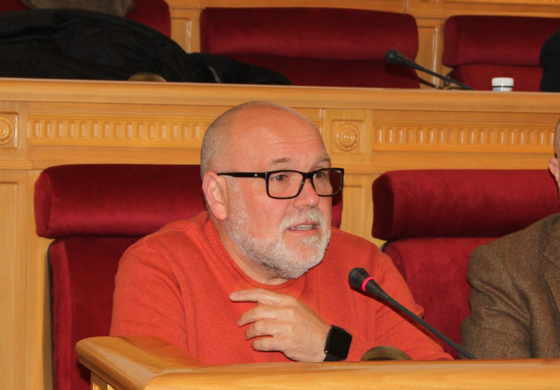
<path fill-rule="evenodd" d="M 372 235 L 386 240 L 501 237 L 560 212 L 544 169 L 391 171 L 372 191 Z"/>

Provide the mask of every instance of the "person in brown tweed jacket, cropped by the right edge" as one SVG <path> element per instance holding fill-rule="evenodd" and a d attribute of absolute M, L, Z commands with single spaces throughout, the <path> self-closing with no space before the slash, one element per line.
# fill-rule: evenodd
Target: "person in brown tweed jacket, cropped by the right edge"
<path fill-rule="evenodd" d="M 558 156 L 560 121 L 554 137 Z M 560 182 L 558 158 L 549 169 Z M 560 214 L 475 249 L 467 278 L 461 346 L 479 359 L 560 357 Z"/>

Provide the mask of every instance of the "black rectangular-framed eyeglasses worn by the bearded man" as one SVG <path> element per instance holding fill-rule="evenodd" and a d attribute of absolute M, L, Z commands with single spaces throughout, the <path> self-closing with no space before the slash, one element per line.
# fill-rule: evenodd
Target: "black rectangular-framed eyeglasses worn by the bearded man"
<path fill-rule="evenodd" d="M 260 177 L 267 182 L 267 195 L 274 199 L 291 199 L 300 195 L 305 180 L 319 196 L 337 195 L 342 190 L 343 168 L 323 168 L 312 172 L 270 171 L 270 172 L 221 172 L 218 175 L 233 177 Z"/>

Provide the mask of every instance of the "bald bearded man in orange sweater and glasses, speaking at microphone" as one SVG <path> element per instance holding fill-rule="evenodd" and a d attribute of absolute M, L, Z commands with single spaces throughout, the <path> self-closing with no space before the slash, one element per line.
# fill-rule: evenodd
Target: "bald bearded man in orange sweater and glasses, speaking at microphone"
<path fill-rule="evenodd" d="M 348 285 L 365 267 L 422 314 L 389 257 L 331 227 L 344 170 L 316 126 L 249 102 L 209 126 L 207 212 L 143 238 L 116 275 L 112 335 L 153 335 L 210 364 L 360 360 L 377 345 L 450 359 L 424 330 Z"/>

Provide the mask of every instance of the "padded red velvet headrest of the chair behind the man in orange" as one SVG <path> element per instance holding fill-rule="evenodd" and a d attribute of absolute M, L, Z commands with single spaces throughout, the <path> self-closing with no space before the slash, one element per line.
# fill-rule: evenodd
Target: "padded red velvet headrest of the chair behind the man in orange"
<path fill-rule="evenodd" d="M 204 210 L 198 165 L 67 165 L 35 185 L 38 236 L 145 236 Z"/>

